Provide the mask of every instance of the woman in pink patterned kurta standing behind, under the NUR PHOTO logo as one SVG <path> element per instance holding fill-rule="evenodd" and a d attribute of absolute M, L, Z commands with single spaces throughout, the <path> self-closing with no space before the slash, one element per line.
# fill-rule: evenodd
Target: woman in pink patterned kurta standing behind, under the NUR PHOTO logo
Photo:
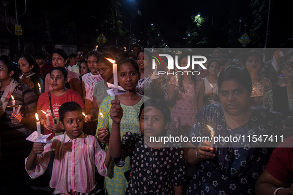
<path fill-rule="evenodd" d="M 179 56 L 180 66 L 186 66 L 188 55 L 191 56 L 192 53 L 185 52 Z M 186 71 L 192 72 L 191 65 L 189 67 Z M 176 76 L 171 77 L 168 104 L 172 107 L 171 116 L 175 120 L 176 129 L 183 126 L 184 130 L 188 129 L 189 131 L 195 122 L 196 113 L 203 107 L 203 97 L 204 82 L 202 78 L 186 72 L 183 75 L 178 75 L 177 78 Z"/>

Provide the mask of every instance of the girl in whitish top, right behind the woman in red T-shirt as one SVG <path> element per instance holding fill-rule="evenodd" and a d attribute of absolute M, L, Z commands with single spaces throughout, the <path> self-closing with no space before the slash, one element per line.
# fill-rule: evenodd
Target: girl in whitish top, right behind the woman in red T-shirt
<path fill-rule="evenodd" d="M 104 57 L 99 56 L 97 51 L 90 51 L 87 56 L 87 65 L 90 69 L 90 73 L 84 74 L 82 76 L 82 91 L 83 99 L 85 99 L 85 113 L 89 114 L 93 106 L 93 89 L 95 85 L 101 81 L 103 78 L 100 75 L 100 69 L 98 68 L 98 63 L 104 60 Z"/>

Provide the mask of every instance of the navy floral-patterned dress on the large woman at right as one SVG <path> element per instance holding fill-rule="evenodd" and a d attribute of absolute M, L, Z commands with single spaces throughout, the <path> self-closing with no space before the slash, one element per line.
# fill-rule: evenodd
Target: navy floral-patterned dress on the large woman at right
<path fill-rule="evenodd" d="M 281 130 L 280 113 L 264 107 L 255 107 L 248 123 L 234 130 L 226 125 L 221 104 L 205 106 L 198 112 L 196 119 L 189 134 L 190 139 L 194 136 L 210 136 L 207 125 L 214 128 L 215 137 L 258 137 L 260 134 L 278 134 L 277 131 Z M 273 148 L 247 144 L 247 140 L 245 143 L 240 140 L 239 143 L 215 143 L 216 156 L 196 166 L 187 195 L 254 194 L 254 184 L 263 172 Z M 198 146 L 199 143 L 193 144 Z"/>

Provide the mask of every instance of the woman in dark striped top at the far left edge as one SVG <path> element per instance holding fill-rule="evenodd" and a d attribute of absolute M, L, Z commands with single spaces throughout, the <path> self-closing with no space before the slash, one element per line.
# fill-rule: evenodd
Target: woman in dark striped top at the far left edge
<path fill-rule="evenodd" d="M 37 98 L 32 89 L 19 82 L 19 72 L 10 60 L 0 59 L 0 189 L 3 194 L 9 194 L 11 189 L 16 194 L 28 193 L 31 181 L 24 173 L 23 162 L 32 146 L 25 139 L 36 129 Z M 12 116 L 11 95 L 15 105 L 21 105 L 21 121 Z"/>

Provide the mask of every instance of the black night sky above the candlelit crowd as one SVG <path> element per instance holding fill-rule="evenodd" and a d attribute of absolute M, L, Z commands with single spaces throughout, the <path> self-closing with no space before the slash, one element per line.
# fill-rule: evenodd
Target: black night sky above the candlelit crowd
<path fill-rule="evenodd" d="M 241 34 L 244 33 L 244 23 L 247 23 L 246 32 L 249 34 L 249 28 L 255 19 L 252 17 L 253 9 L 251 0 L 118 0 L 121 4 L 122 23 L 126 31 L 131 30 L 134 33 L 134 38 L 143 39 L 144 42 L 149 39 L 145 36 L 151 29 L 151 24 L 154 24 L 156 34 L 160 34 L 160 39 L 168 44 L 170 48 L 184 47 L 183 38 L 187 37 L 187 26 L 192 24 L 191 16 L 200 14 L 206 20 L 206 26 L 209 28 L 209 36 L 214 37 L 211 41 L 214 45 L 211 47 L 227 47 L 218 45 L 221 40 L 226 41 L 228 34 L 231 36 L 231 30 L 236 32 L 230 39 L 237 42 L 240 37 L 238 33 L 239 21 L 242 18 Z M 268 7 L 269 0 L 253 0 L 263 2 L 265 7 Z M 269 24 L 269 44 L 268 47 L 279 47 L 282 43 L 289 42 L 293 38 L 293 30 L 289 28 L 292 21 L 291 7 L 288 6 L 286 0 L 271 0 L 271 14 Z M 18 0 L 19 14 L 24 11 L 24 0 Z M 27 12 L 20 17 L 20 24 L 23 25 L 24 36 L 28 34 L 30 37 L 45 37 L 46 29 L 44 23 L 48 17 L 49 7 L 51 5 L 51 19 L 53 34 L 60 40 L 66 40 L 69 34 L 81 37 L 81 42 L 86 42 L 87 32 L 91 36 L 96 36 L 95 29 L 99 29 L 101 33 L 101 22 L 107 19 L 109 3 L 111 1 L 101 0 L 29 0 L 27 1 Z M 137 14 L 140 10 L 142 16 Z M 14 15 L 14 3 L 11 2 L 8 6 L 10 15 Z M 63 13 L 63 14 L 62 14 Z M 258 22 L 262 23 L 264 29 L 260 29 L 264 37 L 266 32 L 267 13 L 263 13 L 263 18 Z M 37 15 L 37 17 L 36 17 Z M 31 19 L 27 19 L 31 18 Z M 32 20 L 32 21 L 30 21 Z M 32 23 L 37 24 L 37 27 L 32 26 Z M 64 22 L 64 23 L 62 23 Z M 67 26 L 65 23 L 67 22 Z M 70 24 L 68 24 L 70 23 Z M 213 24 L 213 26 L 212 26 Z M 109 29 L 110 24 L 108 24 Z M 52 28 L 53 29 L 53 28 Z M 61 29 L 61 30 L 60 30 Z M 105 23 L 103 27 L 105 34 Z M 226 30 L 227 29 L 227 30 Z M 74 31 L 74 32 L 73 32 Z M 129 32 L 124 32 L 126 39 L 129 38 Z M 41 34 L 40 34 L 41 33 Z M 43 33 L 43 34 L 42 34 Z M 109 36 L 109 32 L 108 35 Z M 259 38 L 259 42 L 264 42 L 264 38 Z M 70 37 L 70 42 L 76 43 L 73 36 Z M 73 40 L 73 41 L 72 41 Z M 288 41 L 289 40 L 289 41 Z M 94 40 L 93 40 L 94 41 Z M 110 43 L 109 39 L 109 43 Z M 291 40 L 292 42 L 292 40 Z M 113 44 L 113 40 L 112 43 Z M 119 44 L 119 43 L 118 43 Z M 238 43 L 237 43 L 238 44 Z M 127 44 L 126 44 L 127 45 Z M 143 45 L 143 47 L 146 47 Z M 240 45 L 239 45 L 240 47 Z M 255 46 L 251 46 L 255 47 Z"/>

